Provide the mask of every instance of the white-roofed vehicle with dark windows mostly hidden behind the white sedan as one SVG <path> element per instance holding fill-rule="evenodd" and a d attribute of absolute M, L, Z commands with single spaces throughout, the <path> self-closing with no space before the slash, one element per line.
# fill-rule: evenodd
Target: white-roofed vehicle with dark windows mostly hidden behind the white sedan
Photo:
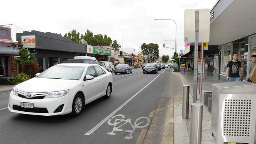
<path fill-rule="evenodd" d="M 90 56 L 76 56 L 74 59 L 67 59 L 66 63 L 91 63 L 98 64 L 95 57 Z"/>

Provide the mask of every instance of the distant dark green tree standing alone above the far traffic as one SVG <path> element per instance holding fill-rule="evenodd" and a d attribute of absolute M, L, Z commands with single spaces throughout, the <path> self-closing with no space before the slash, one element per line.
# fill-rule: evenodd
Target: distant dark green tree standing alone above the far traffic
<path fill-rule="evenodd" d="M 152 61 L 158 59 L 159 57 L 159 46 L 158 44 L 146 44 L 143 43 L 141 44 L 141 51 L 143 52 L 143 54 L 148 55 L 151 54 L 152 55 Z"/>

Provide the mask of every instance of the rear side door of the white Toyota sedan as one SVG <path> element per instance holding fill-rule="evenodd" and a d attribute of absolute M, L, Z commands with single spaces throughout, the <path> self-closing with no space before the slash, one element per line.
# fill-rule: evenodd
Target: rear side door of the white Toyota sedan
<path fill-rule="evenodd" d="M 96 73 L 97 73 L 97 77 L 96 77 L 96 81 L 98 83 L 98 96 L 104 95 L 106 94 L 106 88 L 107 88 L 107 74 L 106 72 L 100 67 L 100 66 L 94 66 Z"/>

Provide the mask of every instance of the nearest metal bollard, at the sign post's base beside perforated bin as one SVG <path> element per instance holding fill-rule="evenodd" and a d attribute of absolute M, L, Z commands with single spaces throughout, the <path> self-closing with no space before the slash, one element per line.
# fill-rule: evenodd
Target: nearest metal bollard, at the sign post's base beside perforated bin
<path fill-rule="evenodd" d="M 189 144 L 201 144 L 202 141 L 202 119 L 203 119 L 203 104 L 191 103 L 192 121 L 190 129 Z"/>

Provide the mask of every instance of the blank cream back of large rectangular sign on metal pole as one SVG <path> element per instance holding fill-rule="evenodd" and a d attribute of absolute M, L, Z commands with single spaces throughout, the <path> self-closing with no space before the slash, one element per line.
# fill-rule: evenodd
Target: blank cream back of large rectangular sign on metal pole
<path fill-rule="evenodd" d="M 184 42 L 195 42 L 195 12 L 199 11 L 198 42 L 209 42 L 210 9 L 186 9 L 184 19 Z"/>

